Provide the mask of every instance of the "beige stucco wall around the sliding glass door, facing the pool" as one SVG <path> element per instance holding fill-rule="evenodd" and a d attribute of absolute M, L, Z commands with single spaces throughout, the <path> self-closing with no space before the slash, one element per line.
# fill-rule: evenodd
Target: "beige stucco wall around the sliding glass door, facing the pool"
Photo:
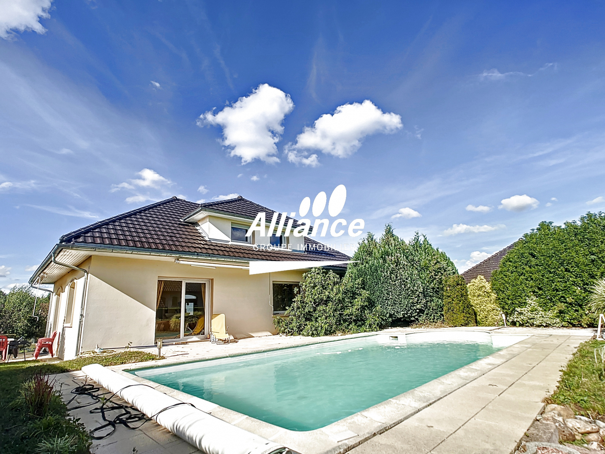
<path fill-rule="evenodd" d="M 154 344 L 158 278 L 209 279 L 214 314 L 235 337 L 275 332 L 272 281 L 297 282 L 302 271 L 249 275 L 244 269 L 199 268 L 162 260 L 91 257 L 82 350 Z M 77 327 L 76 327 L 77 330 Z M 67 347 L 67 344 L 66 344 Z M 67 350 L 66 350 L 67 351 Z"/>

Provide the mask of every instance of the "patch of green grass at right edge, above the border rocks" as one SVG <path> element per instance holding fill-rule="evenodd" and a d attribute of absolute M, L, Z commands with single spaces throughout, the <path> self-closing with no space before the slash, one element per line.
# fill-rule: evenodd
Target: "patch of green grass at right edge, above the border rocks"
<path fill-rule="evenodd" d="M 557 389 L 545 402 L 569 405 L 576 413 L 591 418 L 605 415 L 604 347 L 605 343 L 598 340 L 581 343 L 563 370 Z"/>

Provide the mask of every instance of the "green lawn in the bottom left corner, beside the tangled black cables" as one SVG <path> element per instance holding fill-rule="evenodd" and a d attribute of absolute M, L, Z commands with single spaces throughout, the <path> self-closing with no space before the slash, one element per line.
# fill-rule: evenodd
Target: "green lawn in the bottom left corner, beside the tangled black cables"
<path fill-rule="evenodd" d="M 62 373 L 87 364 L 103 366 L 157 360 L 153 354 L 126 350 L 114 355 L 91 356 L 48 364 L 43 361 L 0 363 L 0 453 L 84 454 L 91 439 L 85 427 L 70 417 L 67 406 L 55 394 L 44 416 L 33 416 L 21 396 L 22 384 L 34 373 Z"/>

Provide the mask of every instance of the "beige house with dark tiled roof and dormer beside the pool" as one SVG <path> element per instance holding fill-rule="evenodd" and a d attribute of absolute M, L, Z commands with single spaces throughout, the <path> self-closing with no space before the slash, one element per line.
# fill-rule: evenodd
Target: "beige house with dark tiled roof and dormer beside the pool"
<path fill-rule="evenodd" d="M 30 280 L 54 284 L 47 334 L 60 333 L 58 356 L 203 340 L 209 314 L 225 314 L 236 338 L 274 334 L 273 317 L 289 307 L 308 268 L 249 274 L 249 263 L 350 257 L 297 237 L 301 224 L 286 213 L 276 218 L 281 235 L 246 236 L 259 212 L 273 218 L 241 196 L 201 205 L 172 197 L 60 237 Z M 346 265 L 325 268 L 342 274 Z"/>

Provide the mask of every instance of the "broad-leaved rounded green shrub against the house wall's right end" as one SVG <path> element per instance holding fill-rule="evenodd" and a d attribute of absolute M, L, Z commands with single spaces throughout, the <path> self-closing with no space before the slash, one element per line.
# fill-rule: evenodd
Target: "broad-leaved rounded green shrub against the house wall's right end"
<path fill-rule="evenodd" d="M 333 271 L 312 268 L 302 276 L 286 317 L 276 317 L 278 332 L 290 335 L 325 336 L 336 333 L 376 331 L 385 323 L 381 309 L 373 305 L 361 280 L 340 278 Z"/>

